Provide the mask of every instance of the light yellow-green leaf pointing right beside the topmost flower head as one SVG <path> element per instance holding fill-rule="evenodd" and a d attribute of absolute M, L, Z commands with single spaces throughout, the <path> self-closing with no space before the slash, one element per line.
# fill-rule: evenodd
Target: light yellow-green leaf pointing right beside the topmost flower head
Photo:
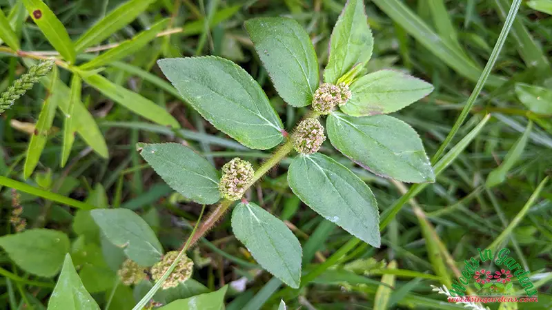
<path fill-rule="evenodd" d="M 418 101 L 433 85 L 393 70 L 373 72 L 351 84 L 351 99 L 341 110 L 351 116 L 388 114 Z"/>

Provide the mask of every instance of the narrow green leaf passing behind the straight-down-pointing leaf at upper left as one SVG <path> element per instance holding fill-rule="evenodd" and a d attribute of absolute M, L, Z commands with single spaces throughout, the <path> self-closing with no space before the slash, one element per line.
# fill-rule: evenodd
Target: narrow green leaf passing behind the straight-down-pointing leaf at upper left
<path fill-rule="evenodd" d="M 69 101 L 67 99 L 71 96 L 70 89 L 60 79 L 54 79 L 54 81 L 55 92 L 50 94 L 50 99 L 52 103 L 55 103 L 57 107 L 59 107 L 61 112 L 66 114 L 69 111 Z M 44 77 L 42 83 L 48 86 L 52 83 L 52 78 L 50 78 L 50 76 Z M 84 142 L 90 145 L 99 156 L 108 158 L 109 154 L 106 140 L 103 138 L 103 134 L 101 134 L 94 116 L 90 114 L 80 100 L 75 102 L 73 112 L 73 115 L 75 115 L 75 119 L 73 120 L 76 126 L 75 130 L 77 130 L 79 136 L 81 136 Z"/>

